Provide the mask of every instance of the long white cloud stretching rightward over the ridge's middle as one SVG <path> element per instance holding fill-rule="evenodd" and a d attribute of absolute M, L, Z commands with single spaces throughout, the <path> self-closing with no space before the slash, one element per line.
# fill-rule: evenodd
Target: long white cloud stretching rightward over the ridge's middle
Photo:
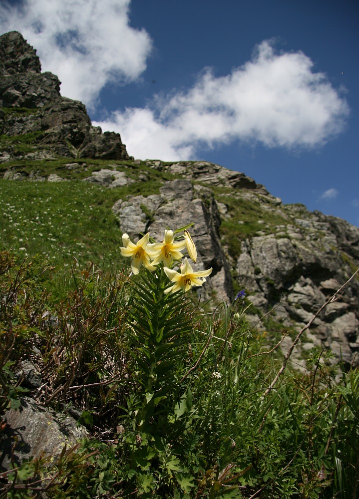
<path fill-rule="evenodd" d="M 199 148 L 240 140 L 313 148 L 345 127 L 347 102 L 303 52 L 278 53 L 263 41 L 226 76 L 207 68 L 192 88 L 157 95 L 145 109 L 113 112 L 97 123 L 121 133 L 137 158 L 195 158 Z"/>

